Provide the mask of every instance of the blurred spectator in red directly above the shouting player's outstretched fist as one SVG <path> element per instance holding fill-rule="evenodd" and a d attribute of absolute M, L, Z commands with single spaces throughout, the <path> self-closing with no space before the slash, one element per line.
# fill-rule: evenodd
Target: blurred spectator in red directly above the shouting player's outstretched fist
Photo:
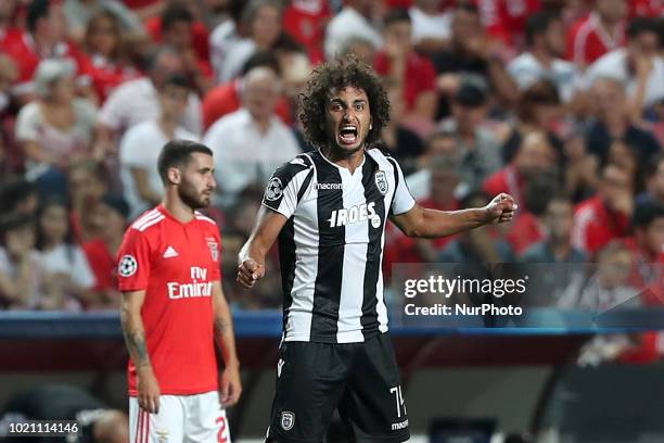
<path fill-rule="evenodd" d="M 482 189 L 489 195 L 500 192 L 510 193 L 521 208 L 525 207 L 525 187 L 527 181 L 547 172 L 556 170 L 558 155 L 547 136 L 529 132 L 523 137 L 512 162 L 490 175 Z"/>

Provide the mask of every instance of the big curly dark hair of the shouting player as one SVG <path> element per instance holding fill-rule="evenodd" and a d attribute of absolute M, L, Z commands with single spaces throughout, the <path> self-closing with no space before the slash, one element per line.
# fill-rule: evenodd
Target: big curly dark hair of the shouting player
<path fill-rule="evenodd" d="M 330 92 L 353 86 L 362 89 L 369 99 L 372 128 L 365 140 L 371 148 L 381 136 L 381 129 L 390 122 L 390 99 L 381 78 L 368 64 L 355 55 L 337 56 L 314 69 L 311 77 L 299 94 L 299 121 L 308 143 L 322 148 L 329 140 L 325 110 Z"/>

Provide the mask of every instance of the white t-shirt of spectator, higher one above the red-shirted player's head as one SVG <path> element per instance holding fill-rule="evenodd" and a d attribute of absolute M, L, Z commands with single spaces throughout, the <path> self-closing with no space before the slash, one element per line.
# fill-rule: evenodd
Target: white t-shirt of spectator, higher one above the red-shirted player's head
<path fill-rule="evenodd" d="M 124 83 L 108 96 L 99 112 L 99 122 L 125 132 L 141 122 L 157 119 L 159 112 L 157 91 L 150 78 L 142 77 Z M 201 134 L 203 130 L 201 100 L 193 92 L 189 94 L 181 124 L 193 134 Z"/>

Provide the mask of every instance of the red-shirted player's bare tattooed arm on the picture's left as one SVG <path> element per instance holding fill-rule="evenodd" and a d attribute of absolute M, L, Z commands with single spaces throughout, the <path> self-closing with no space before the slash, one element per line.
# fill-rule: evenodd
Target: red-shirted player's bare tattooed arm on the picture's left
<path fill-rule="evenodd" d="M 145 344 L 145 328 L 141 318 L 144 300 L 145 291 L 123 292 L 120 321 L 129 356 L 136 366 L 139 406 L 151 414 L 158 414 L 159 383 L 150 362 Z"/>

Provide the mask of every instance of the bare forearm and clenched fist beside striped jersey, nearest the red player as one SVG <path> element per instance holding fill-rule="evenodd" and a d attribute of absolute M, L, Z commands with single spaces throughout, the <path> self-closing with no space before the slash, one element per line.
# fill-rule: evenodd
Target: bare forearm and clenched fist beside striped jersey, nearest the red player
<path fill-rule="evenodd" d="M 286 217 L 265 206 L 258 211 L 254 229 L 238 254 L 238 282 L 252 288 L 265 276 L 265 256 L 272 248 Z"/>

